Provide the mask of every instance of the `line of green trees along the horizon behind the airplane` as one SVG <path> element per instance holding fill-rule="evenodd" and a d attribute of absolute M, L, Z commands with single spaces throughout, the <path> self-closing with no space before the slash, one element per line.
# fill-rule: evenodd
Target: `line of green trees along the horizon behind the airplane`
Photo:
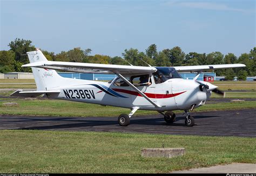
<path fill-rule="evenodd" d="M 31 40 L 16 38 L 11 41 L 8 46 L 9 51 L 0 51 L 0 72 L 31 72 L 29 67 L 21 67 L 23 64 L 29 63 L 28 57 L 25 55 L 28 51 L 35 51 Z M 117 65 L 139 65 L 147 66 L 185 66 L 185 65 L 210 65 L 210 64 L 245 64 L 246 67 L 238 69 L 217 70 L 217 76 L 225 76 L 227 80 L 233 80 L 238 76 L 239 79 L 245 80 L 247 76 L 256 76 L 256 47 L 251 49 L 249 53 L 242 53 L 237 57 L 233 53 L 223 55 L 221 52 L 211 53 L 185 53 L 179 46 L 171 49 L 157 50 L 156 44 L 151 44 L 145 52 L 138 49 L 125 49 L 122 57 L 110 57 L 105 55 L 91 56 L 91 49 L 73 48 L 69 51 L 62 51 L 55 54 L 42 50 L 48 60 L 63 62 L 83 62 L 98 64 L 117 64 Z M 144 61 L 144 62 L 143 62 Z M 146 63 L 147 64 L 146 64 Z"/>

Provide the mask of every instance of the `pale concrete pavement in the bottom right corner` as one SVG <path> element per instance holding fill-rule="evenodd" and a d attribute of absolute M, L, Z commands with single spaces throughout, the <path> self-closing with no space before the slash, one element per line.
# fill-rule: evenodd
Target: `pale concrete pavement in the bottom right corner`
<path fill-rule="evenodd" d="M 186 171 L 174 171 L 172 173 L 256 173 L 256 164 L 233 163 L 205 168 L 192 168 Z"/>

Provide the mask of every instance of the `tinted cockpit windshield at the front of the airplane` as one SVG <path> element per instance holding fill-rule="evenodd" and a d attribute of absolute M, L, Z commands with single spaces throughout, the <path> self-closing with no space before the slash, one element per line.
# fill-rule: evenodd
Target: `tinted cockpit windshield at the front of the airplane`
<path fill-rule="evenodd" d="M 168 79 L 181 78 L 181 75 L 173 67 L 156 67 L 157 72 L 155 73 L 161 78 L 161 82 L 165 82 Z"/>

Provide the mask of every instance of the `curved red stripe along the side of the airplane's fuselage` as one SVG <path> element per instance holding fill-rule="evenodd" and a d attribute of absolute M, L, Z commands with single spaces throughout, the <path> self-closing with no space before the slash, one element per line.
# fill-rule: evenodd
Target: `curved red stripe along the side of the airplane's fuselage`
<path fill-rule="evenodd" d="M 124 90 L 124 89 L 112 89 L 112 90 L 117 91 L 117 92 L 122 92 L 122 93 L 128 93 L 133 96 L 142 97 L 141 94 L 139 94 L 138 92 L 135 92 L 135 91 L 129 91 L 129 90 Z M 184 92 L 186 92 L 186 91 L 184 91 Z M 173 93 L 173 94 L 154 94 L 154 93 L 144 93 L 144 94 L 149 98 L 171 98 L 171 97 L 178 96 L 179 94 L 184 93 L 184 92 Z"/>

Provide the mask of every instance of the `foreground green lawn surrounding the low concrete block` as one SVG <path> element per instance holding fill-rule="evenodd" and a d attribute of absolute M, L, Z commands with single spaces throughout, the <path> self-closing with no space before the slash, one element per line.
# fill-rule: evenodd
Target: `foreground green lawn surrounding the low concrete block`
<path fill-rule="evenodd" d="M 168 173 L 256 163 L 255 138 L 106 132 L 0 131 L 2 173 Z M 184 147 L 176 158 L 142 158 L 147 147 Z"/>

